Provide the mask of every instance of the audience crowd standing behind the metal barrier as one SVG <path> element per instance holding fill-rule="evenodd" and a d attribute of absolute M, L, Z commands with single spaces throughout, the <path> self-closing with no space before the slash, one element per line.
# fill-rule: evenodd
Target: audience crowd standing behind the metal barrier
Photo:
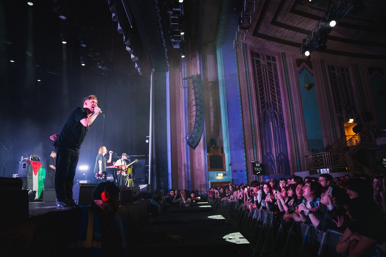
<path fill-rule="evenodd" d="M 191 197 L 193 198 L 192 191 Z M 186 192 L 188 195 L 188 192 Z M 185 198 L 173 200 L 180 206 Z M 292 222 L 312 224 L 318 230 L 328 228 L 343 233 L 336 251 L 351 257 L 373 256 L 376 244 L 386 252 L 386 176 L 345 175 L 272 178 L 249 185 L 212 187 L 207 201 L 236 203 L 239 210 L 267 210 L 274 222 L 289 228 Z"/>

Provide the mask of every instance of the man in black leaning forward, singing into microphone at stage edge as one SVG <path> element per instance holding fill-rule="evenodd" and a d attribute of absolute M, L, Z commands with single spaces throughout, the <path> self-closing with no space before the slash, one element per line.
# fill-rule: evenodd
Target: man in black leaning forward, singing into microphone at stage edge
<path fill-rule="evenodd" d="M 58 209 L 78 206 L 73 200 L 73 184 L 76 166 L 79 160 L 79 149 L 91 123 L 100 113 L 97 97 L 87 96 L 83 99 L 83 108 L 76 107 L 68 115 L 58 134 L 50 136 L 56 150 L 55 191 Z"/>

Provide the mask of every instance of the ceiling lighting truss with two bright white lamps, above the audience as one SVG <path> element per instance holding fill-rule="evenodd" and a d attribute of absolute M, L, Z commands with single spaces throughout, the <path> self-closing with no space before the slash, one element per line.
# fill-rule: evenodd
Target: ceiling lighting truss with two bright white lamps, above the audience
<path fill-rule="evenodd" d="M 309 56 L 315 49 L 326 49 L 327 35 L 351 8 L 352 14 L 356 14 L 364 9 L 364 4 L 362 0 L 335 0 L 315 28 L 303 39 L 300 53 Z"/>

